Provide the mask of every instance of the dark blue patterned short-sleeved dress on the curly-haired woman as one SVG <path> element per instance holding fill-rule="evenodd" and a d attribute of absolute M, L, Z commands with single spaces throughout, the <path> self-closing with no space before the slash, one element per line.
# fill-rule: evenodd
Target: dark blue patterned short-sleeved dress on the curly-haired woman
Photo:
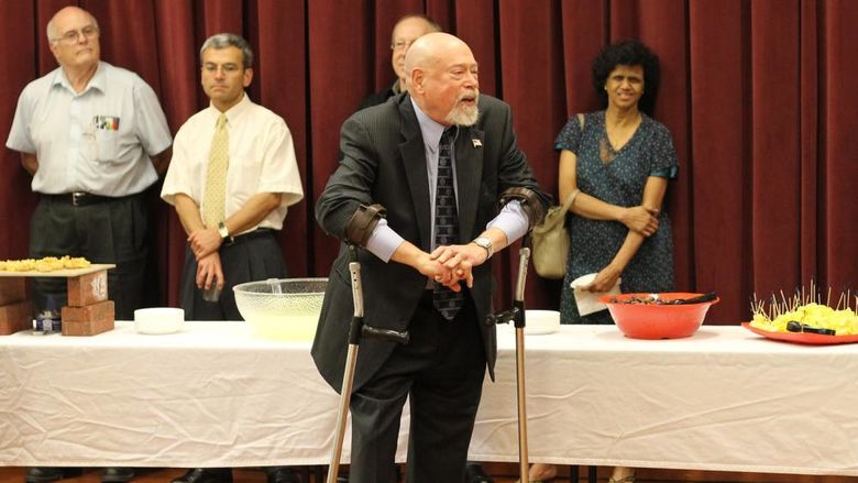
<path fill-rule="evenodd" d="M 566 122 L 554 149 L 576 155 L 581 193 L 610 205 L 634 207 L 641 204 L 649 176 L 676 177 L 679 162 L 670 131 L 652 118 L 644 113 L 641 117 L 635 134 L 618 151 L 608 142 L 605 111 L 584 114 L 583 129 L 579 116 Z M 607 310 L 580 316 L 570 285 L 575 278 L 607 266 L 626 240 L 628 229 L 619 221 L 591 220 L 572 212 L 566 213 L 566 223 L 571 242 L 560 296 L 560 320 L 562 323 L 613 323 Z M 672 239 L 670 218 L 662 207 L 658 231 L 644 241 L 620 275 L 623 293 L 673 289 Z"/>

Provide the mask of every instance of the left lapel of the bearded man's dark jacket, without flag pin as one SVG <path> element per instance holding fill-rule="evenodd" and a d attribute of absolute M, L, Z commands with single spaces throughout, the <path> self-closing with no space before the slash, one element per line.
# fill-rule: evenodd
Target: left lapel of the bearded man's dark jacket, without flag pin
<path fill-rule="evenodd" d="M 429 206 L 429 176 L 426 173 L 426 149 L 424 136 L 420 134 L 420 124 L 411 106 L 411 98 L 403 96 L 399 101 L 399 114 L 402 116 L 403 142 L 399 144 L 399 153 L 405 168 L 405 175 L 411 193 L 417 227 L 420 231 L 418 242 L 420 249 L 429 251 L 431 248 L 431 207 Z"/>

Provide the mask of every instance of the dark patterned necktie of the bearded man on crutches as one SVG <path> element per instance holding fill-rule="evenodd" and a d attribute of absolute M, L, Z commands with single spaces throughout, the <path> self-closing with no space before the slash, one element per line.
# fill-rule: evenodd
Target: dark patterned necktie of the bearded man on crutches
<path fill-rule="evenodd" d="M 438 143 L 438 176 L 435 196 L 436 246 L 459 243 L 459 213 L 455 207 L 452 163 L 453 128 L 444 131 Z M 464 294 L 437 284 L 432 294 L 435 308 L 447 320 L 452 320 L 464 305 Z"/>

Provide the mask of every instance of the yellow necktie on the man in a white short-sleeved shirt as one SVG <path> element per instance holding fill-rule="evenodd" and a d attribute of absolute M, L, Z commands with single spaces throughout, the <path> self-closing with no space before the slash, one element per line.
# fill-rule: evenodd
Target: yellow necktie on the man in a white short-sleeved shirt
<path fill-rule="evenodd" d="M 202 222 L 207 228 L 217 227 L 226 218 L 227 167 L 230 161 L 230 136 L 227 114 L 218 117 L 215 135 L 211 136 L 209 168 L 206 173 L 206 193 L 202 195 Z"/>

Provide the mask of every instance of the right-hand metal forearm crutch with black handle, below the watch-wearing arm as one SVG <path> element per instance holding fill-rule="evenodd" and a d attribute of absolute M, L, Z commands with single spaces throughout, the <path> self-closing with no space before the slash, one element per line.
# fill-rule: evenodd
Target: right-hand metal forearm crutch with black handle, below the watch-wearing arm
<path fill-rule="evenodd" d="M 525 282 L 530 260 L 530 233 L 525 235 L 518 250 L 518 282 L 513 308 L 486 317 L 486 325 L 513 322 L 516 328 L 516 398 L 518 403 L 518 465 L 520 481 L 528 481 L 527 459 L 527 405 L 525 388 Z"/>

